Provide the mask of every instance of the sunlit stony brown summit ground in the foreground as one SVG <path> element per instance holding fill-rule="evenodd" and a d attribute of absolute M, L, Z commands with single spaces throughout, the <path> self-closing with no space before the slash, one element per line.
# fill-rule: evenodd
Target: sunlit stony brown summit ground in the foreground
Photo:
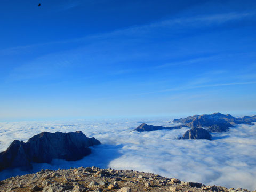
<path fill-rule="evenodd" d="M 134 170 L 99 169 L 79 167 L 68 170 L 41 170 L 0 181 L 0 191 L 248 191 L 227 189 L 221 186 L 206 186 L 201 183 L 183 182 L 156 174 Z"/>

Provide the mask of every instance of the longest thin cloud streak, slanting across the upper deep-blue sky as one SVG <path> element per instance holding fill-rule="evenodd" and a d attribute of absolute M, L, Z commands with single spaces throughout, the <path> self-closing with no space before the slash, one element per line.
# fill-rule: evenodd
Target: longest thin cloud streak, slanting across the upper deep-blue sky
<path fill-rule="evenodd" d="M 79 3 L 75 4 L 74 6 L 78 6 Z M 74 7 L 70 6 L 70 7 Z M 127 35 L 127 36 L 134 36 L 139 35 L 141 33 L 145 33 L 146 31 L 151 31 L 153 29 L 157 29 L 159 27 L 173 27 L 173 26 L 199 26 L 202 25 L 220 25 L 225 22 L 229 21 L 237 21 L 245 18 L 253 17 L 255 13 L 226 13 L 226 14 L 213 14 L 213 15 L 205 15 L 200 17 L 190 17 L 190 18 L 179 18 L 179 19 L 168 19 L 164 21 L 157 21 L 154 23 L 149 23 L 146 25 L 141 26 L 131 26 L 129 28 L 124 29 L 117 29 L 110 32 L 105 33 L 98 33 L 94 35 L 88 35 L 82 38 L 74 38 L 74 39 L 65 39 L 62 41 L 53 41 L 53 42 L 46 42 L 46 43 L 39 43 L 39 44 L 32 44 L 32 45 L 24 45 L 24 46 L 17 46 L 17 47 L 9 47 L 6 49 L 0 50 L 0 54 L 12 54 L 12 53 L 19 53 L 21 50 L 43 46 L 43 45 L 51 45 L 51 44 L 61 44 L 61 43 L 74 43 L 74 42 L 87 42 L 89 40 L 95 39 L 106 39 L 110 37 L 116 37 L 118 35 Z"/>

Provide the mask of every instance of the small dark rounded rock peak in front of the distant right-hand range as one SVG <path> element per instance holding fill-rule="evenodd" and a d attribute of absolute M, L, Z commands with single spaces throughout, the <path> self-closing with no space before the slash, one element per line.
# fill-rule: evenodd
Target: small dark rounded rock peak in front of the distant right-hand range
<path fill-rule="evenodd" d="M 203 128 L 193 128 L 185 132 L 179 139 L 208 139 L 211 140 L 211 134 Z"/>

